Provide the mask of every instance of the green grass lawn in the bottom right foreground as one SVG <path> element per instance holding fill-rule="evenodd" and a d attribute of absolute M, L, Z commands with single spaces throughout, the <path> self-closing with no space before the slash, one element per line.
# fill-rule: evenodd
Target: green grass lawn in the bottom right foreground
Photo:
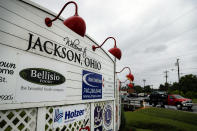
<path fill-rule="evenodd" d="M 125 112 L 122 131 L 197 131 L 197 114 L 163 108 Z"/>

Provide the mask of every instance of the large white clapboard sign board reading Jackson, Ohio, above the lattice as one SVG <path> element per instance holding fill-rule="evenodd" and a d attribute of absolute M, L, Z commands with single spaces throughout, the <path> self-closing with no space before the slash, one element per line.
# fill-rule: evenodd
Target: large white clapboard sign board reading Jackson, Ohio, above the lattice
<path fill-rule="evenodd" d="M 114 99 L 109 55 L 101 48 L 93 51 L 92 39 L 60 19 L 47 27 L 45 18 L 55 14 L 31 4 L 0 1 L 0 110 L 9 103 L 36 107 Z"/>

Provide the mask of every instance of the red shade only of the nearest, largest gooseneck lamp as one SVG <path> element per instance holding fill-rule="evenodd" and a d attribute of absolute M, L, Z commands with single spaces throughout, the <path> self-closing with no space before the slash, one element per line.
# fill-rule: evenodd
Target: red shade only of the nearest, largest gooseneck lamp
<path fill-rule="evenodd" d="M 80 16 L 74 15 L 69 17 L 64 21 L 64 25 L 70 28 L 75 33 L 84 37 L 86 32 L 86 23 Z"/>

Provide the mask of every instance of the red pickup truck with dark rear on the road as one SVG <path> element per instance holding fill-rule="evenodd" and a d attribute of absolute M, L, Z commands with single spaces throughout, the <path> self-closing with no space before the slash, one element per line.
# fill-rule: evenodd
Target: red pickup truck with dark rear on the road
<path fill-rule="evenodd" d="M 191 99 L 184 98 L 177 94 L 167 94 L 165 92 L 153 92 L 149 96 L 149 104 L 152 106 L 165 105 L 176 106 L 178 110 L 187 107 L 188 110 L 192 109 L 193 103 Z"/>

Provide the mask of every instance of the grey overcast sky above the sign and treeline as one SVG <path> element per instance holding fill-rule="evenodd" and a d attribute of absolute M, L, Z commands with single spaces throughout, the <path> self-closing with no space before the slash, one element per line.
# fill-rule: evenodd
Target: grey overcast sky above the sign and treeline
<path fill-rule="evenodd" d="M 58 13 L 67 0 L 32 0 Z M 117 71 L 129 66 L 134 82 L 158 88 L 178 80 L 177 58 L 180 60 L 181 76 L 197 75 L 197 0 L 76 0 L 78 13 L 86 22 L 86 34 L 97 43 L 107 37 L 116 38 L 122 51 L 117 61 Z M 62 17 L 74 14 L 70 5 Z M 113 46 L 108 41 L 106 51 Z M 175 70 L 171 70 L 175 69 Z M 121 81 L 128 73 L 119 74 Z"/>

